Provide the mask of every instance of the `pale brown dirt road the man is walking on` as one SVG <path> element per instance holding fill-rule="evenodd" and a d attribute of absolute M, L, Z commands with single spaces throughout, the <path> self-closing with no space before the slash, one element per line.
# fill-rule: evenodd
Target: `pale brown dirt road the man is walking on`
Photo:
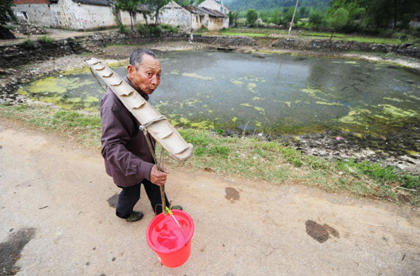
<path fill-rule="evenodd" d="M 144 219 L 116 217 L 99 152 L 1 119 L 0 183 L 0 274 L 420 275 L 408 206 L 176 168 L 167 193 L 195 234 L 187 263 L 165 268 L 146 244 L 146 194 Z"/>

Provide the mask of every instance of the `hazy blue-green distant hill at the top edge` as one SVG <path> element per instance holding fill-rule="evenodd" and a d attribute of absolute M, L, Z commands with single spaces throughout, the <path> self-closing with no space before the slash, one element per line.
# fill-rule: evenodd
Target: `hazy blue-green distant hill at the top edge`
<path fill-rule="evenodd" d="M 330 0 L 300 0 L 298 7 L 323 8 L 329 6 Z M 296 0 L 223 0 L 223 4 L 230 10 L 270 10 L 295 6 Z"/>

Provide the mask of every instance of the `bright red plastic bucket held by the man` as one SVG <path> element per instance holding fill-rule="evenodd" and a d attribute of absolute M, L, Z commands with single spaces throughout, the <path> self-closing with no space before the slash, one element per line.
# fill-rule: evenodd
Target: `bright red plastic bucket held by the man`
<path fill-rule="evenodd" d="M 194 221 L 186 212 L 172 210 L 171 215 L 156 216 L 147 227 L 146 240 L 151 249 L 158 254 L 162 265 L 168 268 L 182 266 L 190 257 L 191 238 L 194 234 Z M 185 239 L 184 239 L 185 235 Z"/>

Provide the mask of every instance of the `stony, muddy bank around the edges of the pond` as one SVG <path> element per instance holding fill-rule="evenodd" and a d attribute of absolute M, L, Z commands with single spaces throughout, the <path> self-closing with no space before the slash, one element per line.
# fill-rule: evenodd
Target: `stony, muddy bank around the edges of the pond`
<path fill-rule="evenodd" d="M 141 45 L 155 52 L 176 50 L 222 50 L 258 54 L 264 52 L 277 54 L 304 55 L 311 57 L 339 57 L 344 59 L 362 59 L 377 62 L 386 62 L 392 66 L 401 66 L 414 73 L 420 73 L 420 60 L 411 57 L 395 57 L 395 55 L 366 55 L 348 52 L 309 52 L 303 50 L 273 50 L 272 48 L 258 46 L 225 47 L 222 45 L 207 45 L 204 43 L 188 43 L 186 41 L 156 42 Z M 109 46 L 104 48 L 101 55 L 95 55 L 107 64 L 127 62 L 134 45 Z M 49 103 L 32 101 L 26 96 L 17 94 L 17 90 L 25 83 L 38 80 L 48 75 L 59 74 L 61 71 L 85 66 L 88 56 L 68 55 L 52 58 L 18 68 L 2 69 L 0 71 L 0 103 L 15 105 L 20 103 L 41 104 L 50 106 Z M 288 134 L 265 134 L 253 131 L 223 130 L 223 136 L 250 136 L 262 140 L 279 140 L 290 147 L 295 147 L 304 154 L 318 156 L 331 160 L 381 162 L 384 166 L 394 166 L 402 173 L 420 175 L 419 155 L 407 154 L 405 150 L 410 147 L 420 149 L 420 120 L 407 122 L 398 132 L 386 133 L 386 139 L 372 137 L 360 138 L 353 133 L 343 131 L 327 131 L 323 133 L 305 133 L 299 136 Z M 406 135 L 409 133 L 409 135 Z"/>

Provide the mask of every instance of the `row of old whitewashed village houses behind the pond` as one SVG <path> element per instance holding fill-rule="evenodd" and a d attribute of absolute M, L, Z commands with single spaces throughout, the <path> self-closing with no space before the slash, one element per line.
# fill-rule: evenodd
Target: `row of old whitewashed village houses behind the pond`
<path fill-rule="evenodd" d="M 131 24 L 153 24 L 154 16 L 147 20 L 139 5 L 137 13 L 115 10 L 109 0 L 13 0 L 15 15 L 19 20 L 44 27 L 89 30 Z M 217 8 L 215 10 L 214 8 Z M 206 0 L 200 6 L 181 7 L 174 1 L 164 6 L 158 17 L 160 24 L 178 27 L 181 31 L 194 31 L 202 27 L 214 31 L 229 27 L 229 17 L 221 12 L 229 10 L 220 0 Z M 154 10 L 153 10 L 154 14 Z"/>

